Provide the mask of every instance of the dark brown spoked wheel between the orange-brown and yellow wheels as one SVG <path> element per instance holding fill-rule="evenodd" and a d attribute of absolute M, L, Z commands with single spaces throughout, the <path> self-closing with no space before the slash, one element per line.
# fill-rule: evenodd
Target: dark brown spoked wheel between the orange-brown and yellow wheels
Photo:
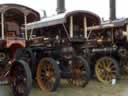
<path fill-rule="evenodd" d="M 90 80 L 90 67 L 88 62 L 81 56 L 72 59 L 72 77 L 69 83 L 78 87 L 85 87 Z"/>

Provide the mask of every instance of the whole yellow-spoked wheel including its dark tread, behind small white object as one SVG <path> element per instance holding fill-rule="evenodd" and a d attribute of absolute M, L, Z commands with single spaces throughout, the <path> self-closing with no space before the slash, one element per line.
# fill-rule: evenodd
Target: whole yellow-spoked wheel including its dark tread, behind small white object
<path fill-rule="evenodd" d="M 97 79 L 105 84 L 111 84 L 119 76 L 118 63 L 112 57 L 101 57 L 95 65 Z"/>

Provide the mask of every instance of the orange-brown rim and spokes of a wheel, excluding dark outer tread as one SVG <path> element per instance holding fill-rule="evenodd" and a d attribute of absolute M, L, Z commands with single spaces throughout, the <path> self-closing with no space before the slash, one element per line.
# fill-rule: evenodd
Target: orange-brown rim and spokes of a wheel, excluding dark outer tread
<path fill-rule="evenodd" d="M 53 65 L 47 61 L 43 60 L 38 64 L 37 68 L 37 82 L 39 87 L 43 90 L 50 90 L 54 87 L 55 83 L 55 72 Z"/>

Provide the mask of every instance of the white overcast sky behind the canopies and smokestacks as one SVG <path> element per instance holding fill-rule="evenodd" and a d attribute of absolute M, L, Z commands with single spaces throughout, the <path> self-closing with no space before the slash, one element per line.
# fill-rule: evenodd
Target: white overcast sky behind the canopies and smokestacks
<path fill-rule="evenodd" d="M 109 19 L 109 0 L 65 0 L 66 10 L 88 10 L 98 14 L 101 18 Z M 117 17 L 128 17 L 128 0 L 117 1 Z M 16 3 L 33 9 L 46 10 L 48 15 L 56 13 L 57 0 L 0 0 L 3 3 Z M 126 12 L 125 12 L 126 11 Z"/>

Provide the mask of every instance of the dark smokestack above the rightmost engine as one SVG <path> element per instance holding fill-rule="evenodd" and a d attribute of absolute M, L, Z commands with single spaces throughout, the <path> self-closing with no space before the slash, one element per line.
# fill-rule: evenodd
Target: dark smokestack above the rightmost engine
<path fill-rule="evenodd" d="M 116 0 L 110 0 L 110 20 L 116 19 Z"/>

